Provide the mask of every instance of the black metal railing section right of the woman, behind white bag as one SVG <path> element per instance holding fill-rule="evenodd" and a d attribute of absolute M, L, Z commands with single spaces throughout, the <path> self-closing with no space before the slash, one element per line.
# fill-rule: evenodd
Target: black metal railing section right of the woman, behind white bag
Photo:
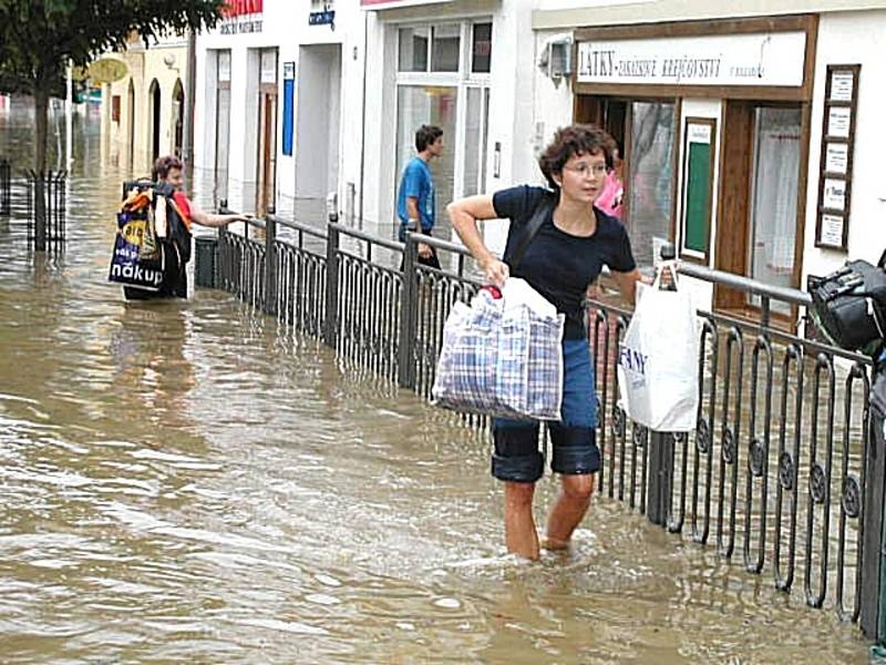
<path fill-rule="evenodd" d="M 589 304 L 600 491 L 740 556 L 749 572 L 769 571 L 779 590 L 800 575 L 808 605 L 830 600 L 841 618 L 861 617 L 875 634 L 883 473 L 872 473 L 870 359 L 773 327 L 770 301 L 808 305 L 802 291 L 691 265 L 682 273 L 760 296 L 760 319 L 698 313 L 697 427 L 670 434 L 630 422 L 618 405 L 617 349 L 630 313 Z"/>

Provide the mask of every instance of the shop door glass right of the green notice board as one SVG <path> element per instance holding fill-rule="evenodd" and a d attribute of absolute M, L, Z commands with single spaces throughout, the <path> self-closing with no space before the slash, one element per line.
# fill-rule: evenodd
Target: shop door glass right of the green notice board
<path fill-rule="evenodd" d="M 750 276 L 775 286 L 794 279 L 802 115 L 797 108 L 758 108 L 750 223 Z M 773 310 L 790 314 L 786 304 Z"/>

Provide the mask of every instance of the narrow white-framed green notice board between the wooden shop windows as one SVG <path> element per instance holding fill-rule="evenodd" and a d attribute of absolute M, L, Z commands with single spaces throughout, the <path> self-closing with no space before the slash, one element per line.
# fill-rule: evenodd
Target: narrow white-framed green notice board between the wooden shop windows
<path fill-rule="evenodd" d="M 711 200 L 717 140 L 712 117 L 687 117 L 683 124 L 682 214 L 680 258 L 708 265 L 711 244 Z"/>

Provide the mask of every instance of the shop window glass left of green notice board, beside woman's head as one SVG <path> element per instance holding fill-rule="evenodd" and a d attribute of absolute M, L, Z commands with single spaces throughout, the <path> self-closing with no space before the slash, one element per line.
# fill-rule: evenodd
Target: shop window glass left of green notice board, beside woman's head
<path fill-rule="evenodd" d="M 653 239 L 670 236 L 673 209 L 674 106 L 670 102 L 629 102 L 628 219 L 633 256 L 653 263 Z"/>

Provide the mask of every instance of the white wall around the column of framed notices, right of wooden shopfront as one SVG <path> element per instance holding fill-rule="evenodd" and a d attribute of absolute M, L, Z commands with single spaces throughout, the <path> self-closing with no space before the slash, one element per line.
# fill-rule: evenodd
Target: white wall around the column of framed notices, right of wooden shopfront
<path fill-rule="evenodd" d="M 803 284 L 807 275 L 825 275 L 846 258 L 876 263 L 886 249 L 886 180 L 883 154 L 886 143 L 883 109 L 886 109 L 886 59 L 882 35 L 886 11 L 825 14 L 818 23 L 815 90 L 810 136 L 810 180 L 806 200 Z M 855 147 L 849 212 L 848 253 L 815 247 L 818 170 L 822 149 L 825 74 L 828 64 L 861 63 Z"/>

